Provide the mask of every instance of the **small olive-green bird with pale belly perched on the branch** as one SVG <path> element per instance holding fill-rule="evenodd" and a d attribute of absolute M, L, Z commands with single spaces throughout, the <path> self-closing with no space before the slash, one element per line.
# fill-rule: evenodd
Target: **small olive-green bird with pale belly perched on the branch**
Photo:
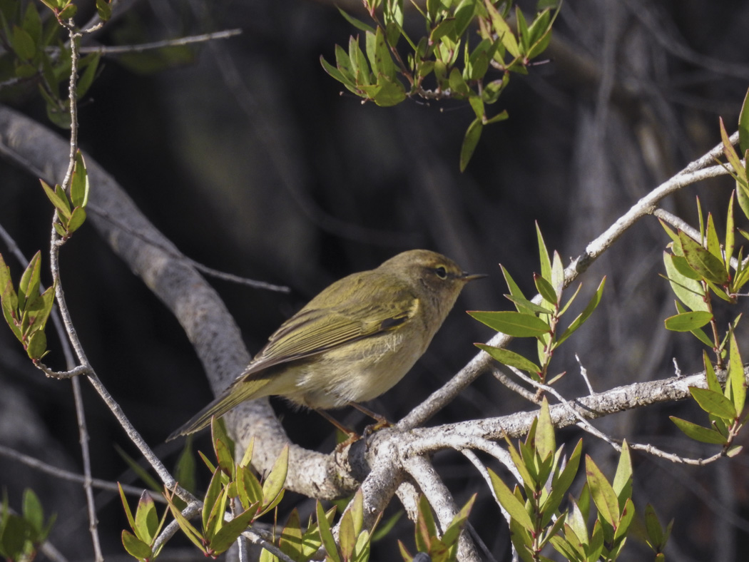
<path fill-rule="evenodd" d="M 438 253 L 410 250 L 334 282 L 285 321 L 244 372 L 169 439 L 263 396 L 318 411 L 380 396 L 424 354 L 464 285 L 481 277 Z"/>

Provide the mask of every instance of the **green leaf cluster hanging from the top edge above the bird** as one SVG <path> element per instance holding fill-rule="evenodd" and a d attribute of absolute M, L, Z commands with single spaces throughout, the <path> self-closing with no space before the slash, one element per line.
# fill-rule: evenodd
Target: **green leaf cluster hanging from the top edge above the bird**
<path fill-rule="evenodd" d="M 359 37 L 352 36 L 348 50 L 336 45 L 335 65 L 322 56 L 320 61 L 348 91 L 378 106 L 413 96 L 467 101 L 475 118 L 461 148 L 462 171 L 483 127 L 508 117 L 506 111 L 489 116 L 486 106 L 497 102 L 510 73 L 527 74 L 531 60 L 547 48 L 558 9 L 552 13 L 544 7 L 529 22 L 516 8 L 513 30 L 507 21 L 509 3 L 498 0 L 428 0 L 424 9 L 412 3 L 425 25 L 418 39 L 403 28 L 404 0 L 365 0 L 374 27 L 342 14 L 363 31 L 366 55 Z M 469 29 L 473 34 L 467 35 Z M 405 56 L 398 49 L 401 38 Z"/>

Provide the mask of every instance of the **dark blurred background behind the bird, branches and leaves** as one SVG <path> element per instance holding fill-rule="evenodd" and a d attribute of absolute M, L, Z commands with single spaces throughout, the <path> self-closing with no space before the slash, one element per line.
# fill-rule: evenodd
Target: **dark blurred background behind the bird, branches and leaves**
<path fill-rule="evenodd" d="M 366 16 L 357 1 L 339 4 Z M 526 13 L 534 10 L 531 2 L 521 5 Z M 535 293 L 534 221 L 567 262 L 637 199 L 716 145 L 718 116 L 736 129 L 749 85 L 748 24 L 749 4 L 741 0 L 567 2 L 542 56 L 548 62 L 529 76 L 512 76 L 497 103 L 509 121 L 485 129 L 461 174 L 458 154 L 473 118 L 470 107 L 407 100 L 384 109 L 340 94 L 318 59 L 333 60 L 334 45 L 348 43 L 356 30 L 333 2 L 134 1 L 88 44 L 225 28 L 243 33 L 178 56 L 103 59 L 80 107 L 81 144 L 187 256 L 291 288 L 278 294 L 213 282 L 251 352 L 321 288 L 402 250 L 437 250 L 467 271 L 491 274 L 464 291 L 413 372 L 370 404 L 397 420 L 473 357 L 473 342 L 491 336 L 462 311 L 511 307 L 502 296 L 507 289 L 499 263 L 529 297 Z M 415 20 L 407 25 L 420 31 Z M 46 121 L 36 97 L 5 101 Z M 51 210 L 37 179 L 4 161 L 0 178 L 0 223 L 27 256 L 41 248 L 46 259 Z M 725 178 L 705 182 L 664 207 L 694 224 L 699 195 L 723 224 L 731 189 Z M 694 338 L 663 329 L 674 312 L 673 295 L 658 277 L 667 242 L 655 219 L 643 220 L 583 276 L 580 306 L 603 275 L 607 285 L 596 315 L 554 357 L 555 371 L 568 372 L 558 385 L 565 396 L 586 392 L 575 354 L 595 390 L 673 375 L 674 357 L 682 372 L 700 370 L 702 350 Z M 0 251 L 6 256 L 6 248 Z M 11 268 L 17 278 L 22 268 Z M 147 441 L 162 443 L 211 398 L 181 327 L 91 226 L 64 247 L 62 274 L 88 357 Z M 51 348 L 46 362 L 62 369 L 54 336 Z M 524 342 L 512 348 L 535 354 L 535 345 Z M 80 471 L 68 387 L 43 378 L 10 331 L 0 330 L 0 444 Z M 85 384 L 84 390 L 94 476 L 132 480 L 114 445 L 133 456 L 136 450 L 94 392 Z M 281 401 L 273 405 L 294 441 L 332 449 L 324 420 Z M 484 375 L 431 423 L 532 408 Z M 694 404 L 674 404 L 618 414 L 597 426 L 687 456 L 715 453 L 682 438 L 667 419 L 671 414 L 705 421 Z M 367 423 L 354 412 L 339 412 L 339 418 L 360 428 Z M 579 437 L 572 429 L 559 435 L 570 446 Z M 586 453 L 613 477 L 616 454 L 587 441 Z M 207 450 L 207 438 L 197 443 Z M 178 449 L 161 451 L 173 464 Z M 458 501 L 476 491 L 487 496 L 462 457 L 444 453 L 435 462 Z M 692 468 L 636 454 L 634 464 L 637 510 L 649 501 L 662 520 L 676 518 L 671 559 L 743 560 L 745 455 Z M 79 486 L 2 457 L 0 486 L 16 507 L 22 489 L 33 487 L 59 514 L 55 545 L 70 559 L 91 558 Z M 119 501 L 106 494 L 99 501 L 106 552 L 122 555 L 119 534 L 126 522 Z M 287 512 L 293 505 L 288 501 Z M 309 509 L 309 502 L 302 507 Z M 497 560 L 506 559 L 507 531 L 497 507 L 478 504 L 471 519 Z M 395 536 L 413 547 L 410 523 L 401 521 Z M 397 558 L 396 548 L 394 537 L 383 540 L 373 560 Z M 622 560 L 647 555 L 634 539 L 625 552 Z"/>

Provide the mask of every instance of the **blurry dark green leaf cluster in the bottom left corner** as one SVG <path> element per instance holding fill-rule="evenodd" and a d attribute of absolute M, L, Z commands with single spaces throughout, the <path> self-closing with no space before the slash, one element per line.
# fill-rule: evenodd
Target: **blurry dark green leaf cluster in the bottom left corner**
<path fill-rule="evenodd" d="M 20 515 L 10 513 L 4 495 L 0 507 L 0 556 L 8 562 L 31 562 L 54 523 L 54 514 L 44 521 L 42 504 L 32 489 L 23 491 Z"/>

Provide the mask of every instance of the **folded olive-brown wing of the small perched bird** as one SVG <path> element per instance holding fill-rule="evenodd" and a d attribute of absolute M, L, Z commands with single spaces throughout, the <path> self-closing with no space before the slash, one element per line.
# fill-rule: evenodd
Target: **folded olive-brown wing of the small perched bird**
<path fill-rule="evenodd" d="M 318 308 L 321 299 L 315 297 L 270 336 L 242 377 L 254 378 L 267 367 L 375 336 L 409 321 L 419 307 L 413 291 L 402 283 L 385 285 L 388 288 L 383 290 L 363 282 L 351 298 L 333 308 Z"/>

